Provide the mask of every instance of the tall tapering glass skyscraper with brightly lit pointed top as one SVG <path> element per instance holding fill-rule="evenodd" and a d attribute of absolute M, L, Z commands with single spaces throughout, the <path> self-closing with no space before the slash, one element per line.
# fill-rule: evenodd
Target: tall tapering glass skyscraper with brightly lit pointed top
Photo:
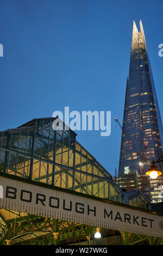
<path fill-rule="evenodd" d="M 162 155 L 163 131 L 145 34 L 133 23 L 129 76 L 124 103 L 121 151 L 118 175 L 143 173 Z M 162 171 L 162 163 L 158 164 Z"/>

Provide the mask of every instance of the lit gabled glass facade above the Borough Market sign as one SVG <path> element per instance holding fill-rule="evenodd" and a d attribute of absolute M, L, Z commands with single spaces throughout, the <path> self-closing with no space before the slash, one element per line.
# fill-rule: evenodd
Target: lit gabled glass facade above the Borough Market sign
<path fill-rule="evenodd" d="M 34 119 L 1 132 L 0 171 L 123 203 L 111 175 L 76 141 L 76 133 L 54 131 L 54 120 Z"/>

